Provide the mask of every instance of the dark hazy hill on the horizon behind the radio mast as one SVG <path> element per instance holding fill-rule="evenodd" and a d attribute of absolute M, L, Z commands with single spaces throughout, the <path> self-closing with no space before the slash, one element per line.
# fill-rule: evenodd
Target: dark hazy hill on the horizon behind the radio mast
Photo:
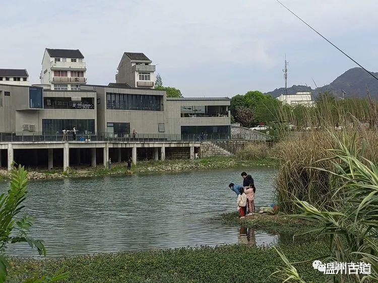
<path fill-rule="evenodd" d="M 378 77 L 378 73 L 373 74 Z M 366 97 L 366 85 L 369 88 L 371 96 L 378 98 L 378 80 L 375 80 L 362 68 L 355 67 L 347 70 L 329 85 L 314 90 L 307 86 L 293 85 L 287 89 L 287 93 L 295 94 L 296 92 L 310 91 L 313 96 L 317 97 L 319 93 L 328 91 L 334 96 L 342 96 L 342 90 L 344 90 L 346 92 L 346 97 Z M 273 97 L 277 97 L 285 93 L 285 89 L 279 88 L 268 93 Z"/>

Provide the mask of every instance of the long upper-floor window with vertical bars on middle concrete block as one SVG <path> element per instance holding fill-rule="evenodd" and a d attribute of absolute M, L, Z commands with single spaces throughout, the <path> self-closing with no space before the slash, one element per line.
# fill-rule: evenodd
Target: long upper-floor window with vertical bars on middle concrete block
<path fill-rule="evenodd" d="M 108 92 L 106 100 L 107 109 L 161 111 L 162 96 Z"/>

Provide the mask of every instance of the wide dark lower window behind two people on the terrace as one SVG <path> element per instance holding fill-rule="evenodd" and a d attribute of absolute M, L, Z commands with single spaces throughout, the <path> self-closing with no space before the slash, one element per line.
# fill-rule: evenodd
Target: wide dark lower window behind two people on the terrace
<path fill-rule="evenodd" d="M 42 119 L 43 134 L 62 134 L 64 129 L 76 127 L 80 134 L 95 132 L 94 119 Z"/>

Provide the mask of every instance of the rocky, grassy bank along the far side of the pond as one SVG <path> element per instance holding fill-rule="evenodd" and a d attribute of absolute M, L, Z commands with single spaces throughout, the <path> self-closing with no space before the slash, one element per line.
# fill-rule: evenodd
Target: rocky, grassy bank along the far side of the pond
<path fill-rule="evenodd" d="M 149 172 L 181 172 L 191 170 L 211 170 L 211 169 L 232 169 L 232 168 L 251 168 L 267 167 L 271 168 L 276 165 L 276 161 L 271 158 L 240 160 L 236 157 L 209 157 L 196 160 L 165 160 L 165 161 L 138 161 L 137 165 L 132 166 L 132 173 L 149 173 Z M 111 169 L 98 165 L 92 167 L 70 167 L 66 172 L 62 170 L 40 170 L 28 169 L 29 179 L 50 179 L 65 177 L 91 177 L 101 175 L 120 175 L 128 174 L 127 164 L 113 163 Z M 130 174 L 130 173 L 129 173 Z M 10 173 L 6 170 L 0 170 L 0 178 L 9 178 Z"/>

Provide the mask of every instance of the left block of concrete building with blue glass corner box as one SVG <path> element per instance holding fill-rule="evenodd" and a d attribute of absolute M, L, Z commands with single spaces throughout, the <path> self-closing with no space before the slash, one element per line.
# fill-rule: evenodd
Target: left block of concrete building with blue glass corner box
<path fill-rule="evenodd" d="M 73 126 L 84 134 L 95 133 L 95 101 L 94 91 L 0 85 L 0 133 L 60 136 Z"/>

